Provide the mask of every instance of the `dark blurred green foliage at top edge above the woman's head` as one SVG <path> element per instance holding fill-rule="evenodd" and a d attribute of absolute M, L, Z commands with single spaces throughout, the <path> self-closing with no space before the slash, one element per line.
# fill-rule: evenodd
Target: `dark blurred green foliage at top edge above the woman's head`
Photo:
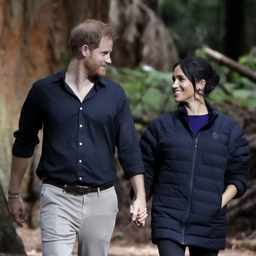
<path fill-rule="evenodd" d="M 164 0 L 162 17 L 182 57 L 207 44 L 222 49 L 225 9 L 222 0 Z"/>

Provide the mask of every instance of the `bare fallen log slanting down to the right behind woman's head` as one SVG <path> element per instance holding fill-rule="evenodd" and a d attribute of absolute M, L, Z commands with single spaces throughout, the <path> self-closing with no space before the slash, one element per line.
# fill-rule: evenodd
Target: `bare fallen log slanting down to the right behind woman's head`
<path fill-rule="evenodd" d="M 245 76 L 252 82 L 256 83 L 256 72 L 249 70 L 242 66 L 241 64 L 237 63 L 236 61 L 226 57 L 225 55 L 218 53 L 208 47 L 204 49 L 204 52 L 214 60 L 217 60 L 220 64 L 238 72 L 239 74 Z"/>

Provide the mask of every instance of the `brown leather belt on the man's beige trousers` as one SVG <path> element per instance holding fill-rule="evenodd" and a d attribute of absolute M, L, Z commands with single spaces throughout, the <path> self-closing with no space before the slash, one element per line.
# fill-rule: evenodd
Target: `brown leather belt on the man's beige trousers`
<path fill-rule="evenodd" d="M 74 194 L 74 195 L 79 195 L 79 196 L 87 195 L 92 192 L 98 192 L 98 188 L 90 188 L 90 187 L 76 186 L 76 185 L 61 185 L 61 184 L 57 184 L 53 181 L 50 181 L 48 179 L 43 179 L 42 184 L 53 185 L 57 188 L 62 188 L 65 192 L 67 192 L 69 194 Z M 103 190 L 111 188 L 111 187 L 113 187 L 113 184 L 99 187 L 99 190 L 103 191 Z"/>

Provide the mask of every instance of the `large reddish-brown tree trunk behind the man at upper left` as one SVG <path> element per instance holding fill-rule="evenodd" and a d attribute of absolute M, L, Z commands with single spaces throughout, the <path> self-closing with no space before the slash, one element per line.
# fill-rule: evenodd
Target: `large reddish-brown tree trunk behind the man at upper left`
<path fill-rule="evenodd" d="M 35 80 L 66 67 L 72 27 L 85 19 L 108 22 L 109 2 L 2 0 L 0 88 L 8 103 L 12 102 L 14 94 L 18 96 L 15 100 L 23 102 L 24 94 Z M 13 105 L 10 107 L 13 109 Z"/>

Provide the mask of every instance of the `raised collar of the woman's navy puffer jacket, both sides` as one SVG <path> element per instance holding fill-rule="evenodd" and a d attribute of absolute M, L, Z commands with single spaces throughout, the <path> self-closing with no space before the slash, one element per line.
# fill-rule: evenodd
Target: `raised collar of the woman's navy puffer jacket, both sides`
<path fill-rule="evenodd" d="M 205 125 L 205 128 L 210 127 L 215 119 L 218 117 L 218 109 L 215 108 L 215 106 L 211 105 L 209 102 L 205 101 L 205 105 L 207 107 L 208 113 L 209 113 L 209 120 L 208 123 Z M 190 130 L 189 124 L 188 124 L 188 112 L 187 109 L 184 106 L 184 103 L 179 103 L 178 105 L 178 111 L 181 117 L 181 122 L 184 124 L 188 130 Z"/>

